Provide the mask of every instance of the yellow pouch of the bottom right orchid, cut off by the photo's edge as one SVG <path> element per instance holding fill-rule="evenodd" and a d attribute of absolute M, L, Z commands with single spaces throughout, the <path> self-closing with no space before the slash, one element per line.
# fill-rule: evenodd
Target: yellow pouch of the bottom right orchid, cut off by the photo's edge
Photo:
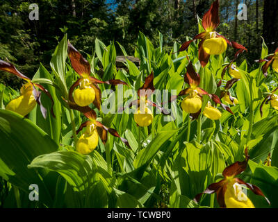
<path fill-rule="evenodd" d="M 227 208 L 255 208 L 250 198 L 243 193 L 243 187 L 234 180 L 227 183 L 224 201 Z"/>

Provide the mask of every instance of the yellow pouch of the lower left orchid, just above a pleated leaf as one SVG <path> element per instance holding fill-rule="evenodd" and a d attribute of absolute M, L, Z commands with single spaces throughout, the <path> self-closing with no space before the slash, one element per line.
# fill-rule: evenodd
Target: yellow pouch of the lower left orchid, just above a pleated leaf
<path fill-rule="evenodd" d="M 79 138 L 76 144 L 76 151 L 84 155 L 92 153 L 98 143 L 99 134 L 97 133 L 97 126 L 95 126 L 94 123 L 91 123 L 87 126 L 86 132 Z"/>

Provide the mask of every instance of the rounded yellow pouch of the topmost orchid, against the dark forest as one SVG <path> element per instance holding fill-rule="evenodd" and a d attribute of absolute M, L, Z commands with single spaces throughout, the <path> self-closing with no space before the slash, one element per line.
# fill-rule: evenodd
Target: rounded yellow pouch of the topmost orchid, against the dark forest
<path fill-rule="evenodd" d="M 227 42 L 222 37 L 213 37 L 204 40 L 203 49 L 209 55 L 220 55 L 227 50 Z"/>

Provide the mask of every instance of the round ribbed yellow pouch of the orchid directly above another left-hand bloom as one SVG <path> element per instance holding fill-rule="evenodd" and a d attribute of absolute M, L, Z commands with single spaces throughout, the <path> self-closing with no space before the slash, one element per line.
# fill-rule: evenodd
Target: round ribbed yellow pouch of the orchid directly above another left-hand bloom
<path fill-rule="evenodd" d="M 88 78 L 83 78 L 78 89 L 74 89 L 74 102 L 80 106 L 90 105 L 95 100 L 95 90 Z"/>

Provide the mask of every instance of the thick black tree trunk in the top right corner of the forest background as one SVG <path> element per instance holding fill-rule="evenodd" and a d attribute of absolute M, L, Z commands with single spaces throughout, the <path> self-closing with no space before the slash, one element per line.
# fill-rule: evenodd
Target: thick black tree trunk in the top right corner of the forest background
<path fill-rule="evenodd" d="M 270 53 L 278 46 L 278 1 L 264 0 L 263 6 L 263 38 Z"/>

